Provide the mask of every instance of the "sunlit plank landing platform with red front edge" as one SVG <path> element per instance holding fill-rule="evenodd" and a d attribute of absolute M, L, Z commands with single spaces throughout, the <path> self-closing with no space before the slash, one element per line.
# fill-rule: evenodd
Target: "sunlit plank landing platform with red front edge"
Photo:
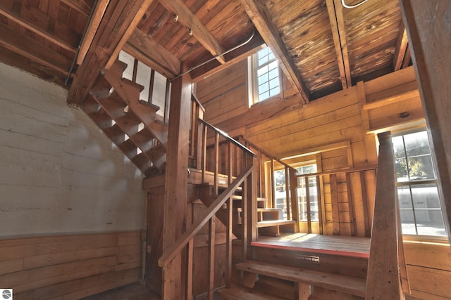
<path fill-rule="evenodd" d="M 293 233 L 278 237 L 260 235 L 259 240 L 251 244 L 254 247 L 369 258 L 370 241 L 369 237 Z"/>

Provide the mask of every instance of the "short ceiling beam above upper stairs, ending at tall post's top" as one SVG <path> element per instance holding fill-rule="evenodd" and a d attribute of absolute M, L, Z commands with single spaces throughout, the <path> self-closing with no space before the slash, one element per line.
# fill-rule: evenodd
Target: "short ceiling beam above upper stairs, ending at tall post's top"
<path fill-rule="evenodd" d="M 180 74 L 180 60 L 139 28 L 135 28 L 123 50 L 167 78 Z"/>

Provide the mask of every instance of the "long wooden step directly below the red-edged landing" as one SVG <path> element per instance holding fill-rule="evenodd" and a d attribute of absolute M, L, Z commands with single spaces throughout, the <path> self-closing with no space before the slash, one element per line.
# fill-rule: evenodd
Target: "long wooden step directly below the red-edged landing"
<path fill-rule="evenodd" d="M 235 264 L 235 268 L 237 270 L 280 278 L 292 282 L 300 282 L 355 296 L 365 296 L 366 280 L 364 280 L 364 278 L 279 266 L 271 263 L 262 263 L 260 261 L 237 263 Z"/>

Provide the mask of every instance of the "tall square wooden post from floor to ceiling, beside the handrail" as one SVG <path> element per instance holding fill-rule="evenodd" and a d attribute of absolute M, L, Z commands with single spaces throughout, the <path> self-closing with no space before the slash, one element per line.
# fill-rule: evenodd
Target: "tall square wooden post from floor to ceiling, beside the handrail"
<path fill-rule="evenodd" d="M 186 226 L 187 164 L 190 138 L 191 78 L 189 74 L 172 83 L 171 122 L 168 127 L 168 153 L 165 178 L 163 212 L 163 252 L 171 247 Z M 174 216 L 177 216 L 175 218 Z M 173 259 L 171 266 L 163 268 L 163 297 L 180 299 L 184 294 L 181 284 L 181 254 Z"/>

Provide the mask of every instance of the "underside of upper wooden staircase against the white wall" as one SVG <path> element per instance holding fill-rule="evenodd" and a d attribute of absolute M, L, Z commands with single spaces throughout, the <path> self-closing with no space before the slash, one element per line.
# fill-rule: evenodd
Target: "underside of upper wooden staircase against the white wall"
<path fill-rule="evenodd" d="M 160 107 L 140 100 L 144 89 L 122 77 L 127 65 L 119 60 L 102 70 L 83 110 L 145 176 L 166 166 L 168 125 L 156 116 Z"/>

